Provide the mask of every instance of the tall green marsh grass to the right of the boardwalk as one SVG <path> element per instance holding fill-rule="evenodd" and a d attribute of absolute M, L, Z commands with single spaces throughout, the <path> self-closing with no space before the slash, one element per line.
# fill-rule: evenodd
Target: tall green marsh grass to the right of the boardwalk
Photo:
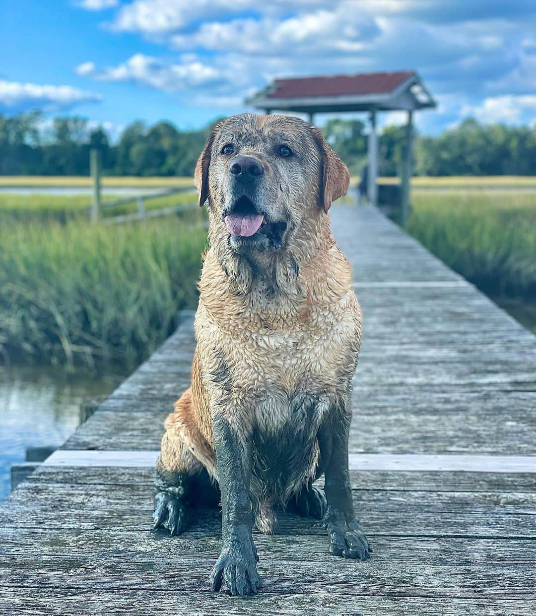
<path fill-rule="evenodd" d="M 536 192 L 415 190 L 408 230 L 492 297 L 536 299 Z"/>

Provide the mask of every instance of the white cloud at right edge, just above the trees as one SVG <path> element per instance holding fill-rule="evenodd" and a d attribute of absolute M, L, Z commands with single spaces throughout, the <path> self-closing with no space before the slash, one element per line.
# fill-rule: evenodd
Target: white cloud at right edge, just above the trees
<path fill-rule="evenodd" d="M 488 97 L 480 105 L 463 105 L 461 116 L 474 116 L 482 123 L 505 122 L 519 124 L 524 120 L 529 123 L 536 118 L 536 94 L 503 95 Z"/>

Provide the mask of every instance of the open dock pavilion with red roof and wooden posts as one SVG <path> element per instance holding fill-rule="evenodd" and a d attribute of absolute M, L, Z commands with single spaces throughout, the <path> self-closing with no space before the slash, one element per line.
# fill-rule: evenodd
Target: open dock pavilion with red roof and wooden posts
<path fill-rule="evenodd" d="M 373 205 L 378 204 L 376 116 L 379 111 L 407 111 L 400 179 L 400 222 L 405 224 L 410 208 L 413 112 L 436 107 L 436 101 L 415 71 L 274 79 L 246 103 L 265 113 L 305 113 L 311 123 L 317 113 L 367 112 L 370 118 L 367 184 L 368 198 Z"/>

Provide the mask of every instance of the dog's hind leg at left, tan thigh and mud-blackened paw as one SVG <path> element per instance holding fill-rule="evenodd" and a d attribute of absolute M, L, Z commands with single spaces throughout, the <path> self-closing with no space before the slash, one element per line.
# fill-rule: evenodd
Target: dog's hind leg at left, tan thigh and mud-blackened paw
<path fill-rule="evenodd" d="M 156 496 L 153 528 L 179 535 L 190 522 L 193 506 L 216 505 L 219 490 L 209 477 L 211 452 L 192 424 L 192 395 L 188 389 L 166 419 L 160 458 L 156 463 Z M 199 458 L 195 455 L 199 456 Z"/>

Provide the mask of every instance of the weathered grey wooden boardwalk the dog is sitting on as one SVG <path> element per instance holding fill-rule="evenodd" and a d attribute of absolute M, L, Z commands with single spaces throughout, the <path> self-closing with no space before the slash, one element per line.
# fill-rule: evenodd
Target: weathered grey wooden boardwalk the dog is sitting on
<path fill-rule="evenodd" d="M 0 508 L 0 614 L 536 613 L 535 337 L 371 208 L 335 206 L 365 314 L 350 460 L 372 561 L 283 516 L 263 589 L 209 591 L 217 511 L 150 530 L 193 314 Z M 532 457 L 534 456 L 534 457 Z"/>

